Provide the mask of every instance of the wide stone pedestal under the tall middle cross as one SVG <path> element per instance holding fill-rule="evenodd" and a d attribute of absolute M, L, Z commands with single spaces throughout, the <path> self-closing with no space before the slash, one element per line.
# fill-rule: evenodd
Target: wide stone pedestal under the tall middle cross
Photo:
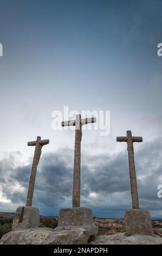
<path fill-rule="evenodd" d="M 98 234 L 98 227 L 93 222 L 91 209 L 76 207 L 60 210 L 59 223 L 55 230 L 70 230 L 75 227 L 88 229 L 90 235 Z"/>

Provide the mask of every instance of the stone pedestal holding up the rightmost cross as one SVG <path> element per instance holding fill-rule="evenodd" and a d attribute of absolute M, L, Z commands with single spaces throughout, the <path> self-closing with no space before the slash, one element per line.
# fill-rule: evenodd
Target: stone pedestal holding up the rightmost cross
<path fill-rule="evenodd" d="M 153 228 L 150 213 L 144 209 L 130 209 L 125 211 L 126 235 L 151 235 Z"/>

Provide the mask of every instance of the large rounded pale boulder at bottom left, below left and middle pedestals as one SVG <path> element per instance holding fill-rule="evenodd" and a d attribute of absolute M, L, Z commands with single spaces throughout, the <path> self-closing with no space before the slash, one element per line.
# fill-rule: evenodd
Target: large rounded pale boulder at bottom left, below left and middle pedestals
<path fill-rule="evenodd" d="M 3 235 L 0 245 L 85 245 L 90 238 L 86 229 L 59 230 L 51 228 L 16 229 Z"/>

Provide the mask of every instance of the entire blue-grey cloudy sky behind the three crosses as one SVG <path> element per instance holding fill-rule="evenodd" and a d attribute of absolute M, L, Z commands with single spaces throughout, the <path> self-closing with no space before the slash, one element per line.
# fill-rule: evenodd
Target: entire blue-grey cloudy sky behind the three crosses
<path fill-rule="evenodd" d="M 83 131 L 81 205 L 100 217 L 131 208 L 127 147 L 116 136 L 132 130 L 143 137 L 134 143 L 140 207 L 162 218 L 161 9 L 161 0 L 0 0 L 0 211 L 25 205 L 27 142 L 37 136 L 50 143 L 33 205 L 44 215 L 72 205 L 75 131 L 52 126 L 68 106 L 111 113 L 109 135 Z"/>

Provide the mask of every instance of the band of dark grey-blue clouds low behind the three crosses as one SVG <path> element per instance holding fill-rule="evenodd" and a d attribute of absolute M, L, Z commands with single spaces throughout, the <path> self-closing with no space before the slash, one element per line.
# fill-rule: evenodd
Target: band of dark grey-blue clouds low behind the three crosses
<path fill-rule="evenodd" d="M 162 184 L 161 152 L 161 138 L 135 150 L 140 206 L 150 210 L 152 217 L 162 215 L 162 200 L 157 197 L 157 186 Z M 15 156 L 10 155 L 0 162 L 0 184 L 11 205 L 24 205 L 31 159 L 30 164 L 18 167 L 13 161 Z M 60 208 L 71 206 L 72 186 L 73 151 L 42 154 L 33 202 L 41 213 L 57 214 Z M 122 217 L 124 210 L 131 208 L 127 150 L 112 156 L 82 154 L 81 203 L 102 217 Z"/>

